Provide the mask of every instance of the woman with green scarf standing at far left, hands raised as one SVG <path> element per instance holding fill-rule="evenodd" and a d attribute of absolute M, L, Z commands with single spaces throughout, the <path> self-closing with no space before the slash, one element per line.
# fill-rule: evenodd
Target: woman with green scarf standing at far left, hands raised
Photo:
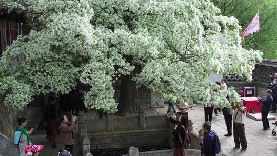
<path fill-rule="evenodd" d="M 27 145 L 31 145 L 31 141 L 30 141 L 30 134 L 33 132 L 33 128 L 31 128 L 29 131 L 26 128 L 27 126 L 27 119 L 26 118 L 19 118 L 18 120 L 18 125 L 16 127 L 15 131 L 20 131 L 21 132 L 21 136 L 19 139 L 19 153 L 20 156 L 24 156 L 26 155 L 24 152 L 24 149 Z"/>

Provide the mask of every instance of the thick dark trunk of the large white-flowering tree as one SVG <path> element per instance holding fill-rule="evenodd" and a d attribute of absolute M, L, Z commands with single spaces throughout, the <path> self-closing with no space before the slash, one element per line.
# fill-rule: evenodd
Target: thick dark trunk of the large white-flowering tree
<path fill-rule="evenodd" d="M 128 62 L 131 62 L 131 56 L 125 58 Z M 132 81 L 132 77 L 137 72 L 138 68 L 135 67 L 135 70 L 130 75 L 121 75 L 118 105 L 119 115 L 138 115 L 140 111 L 138 88 L 136 83 Z"/>

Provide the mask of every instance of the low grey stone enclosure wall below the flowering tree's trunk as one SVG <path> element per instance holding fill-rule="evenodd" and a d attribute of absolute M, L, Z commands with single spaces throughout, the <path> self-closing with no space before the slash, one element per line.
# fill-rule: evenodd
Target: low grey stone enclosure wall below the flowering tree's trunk
<path fill-rule="evenodd" d="M 95 126 L 97 124 L 97 126 Z M 107 119 L 85 120 L 90 150 L 129 148 L 130 146 L 169 146 L 172 148 L 172 124 L 165 115 L 138 116 L 107 115 Z M 192 131 L 189 121 L 188 130 Z M 192 148 L 198 148 L 197 134 L 192 134 Z"/>

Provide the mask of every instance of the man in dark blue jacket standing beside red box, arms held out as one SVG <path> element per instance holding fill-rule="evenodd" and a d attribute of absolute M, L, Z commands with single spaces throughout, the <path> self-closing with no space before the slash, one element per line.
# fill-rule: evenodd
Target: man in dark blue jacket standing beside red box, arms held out
<path fill-rule="evenodd" d="M 259 102 L 263 103 L 262 110 L 261 110 L 261 112 L 262 112 L 262 121 L 263 121 L 263 129 L 262 130 L 270 130 L 267 115 L 270 111 L 270 107 L 271 107 L 271 104 L 272 104 L 272 101 L 273 101 L 273 98 L 272 98 L 271 94 L 272 94 L 272 90 L 268 89 L 266 91 L 266 98 L 265 99 L 261 99 L 260 97 L 258 97 Z"/>

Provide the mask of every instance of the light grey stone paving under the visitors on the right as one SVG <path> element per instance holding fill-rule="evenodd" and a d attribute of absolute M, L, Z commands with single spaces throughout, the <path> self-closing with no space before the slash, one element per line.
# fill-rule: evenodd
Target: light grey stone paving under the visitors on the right
<path fill-rule="evenodd" d="M 193 122 L 193 131 L 198 133 L 204 122 L 204 108 L 202 106 L 195 106 L 193 108 L 194 110 L 189 112 L 189 119 Z M 156 108 L 155 110 L 161 114 L 166 112 L 166 108 Z M 277 116 L 277 114 L 272 115 Z M 213 118 L 213 122 L 212 129 L 214 129 L 219 135 L 222 150 L 225 155 L 277 155 L 277 145 L 275 145 L 275 142 L 277 142 L 277 136 L 272 136 L 271 130 L 262 131 L 261 129 L 263 126 L 261 121 L 254 121 L 246 118 L 245 131 L 248 146 L 248 150 L 246 151 L 233 150 L 233 137 L 227 138 L 224 136 L 224 134 L 227 133 L 227 130 L 223 115 L 218 118 Z M 274 125 L 270 126 L 273 128 Z"/>

